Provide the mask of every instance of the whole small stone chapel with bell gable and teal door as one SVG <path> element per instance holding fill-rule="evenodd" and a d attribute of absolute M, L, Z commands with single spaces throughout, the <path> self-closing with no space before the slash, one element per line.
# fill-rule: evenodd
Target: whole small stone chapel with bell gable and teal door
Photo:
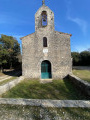
<path fill-rule="evenodd" d="M 54 13 L 45 5 L 35 14 L 35 32 L 22 40 L 22 75 L 62 79 L 72 73 L 71 34 L 55 31 Z"/>

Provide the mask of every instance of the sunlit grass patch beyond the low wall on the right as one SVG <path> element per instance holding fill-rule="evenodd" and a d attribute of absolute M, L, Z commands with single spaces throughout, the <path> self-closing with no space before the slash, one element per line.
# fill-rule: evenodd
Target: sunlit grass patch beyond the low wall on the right
<path fill-rule="evenodd" d="M 90 70 L 73 70 L 73 74 L 90 83 Z"/>

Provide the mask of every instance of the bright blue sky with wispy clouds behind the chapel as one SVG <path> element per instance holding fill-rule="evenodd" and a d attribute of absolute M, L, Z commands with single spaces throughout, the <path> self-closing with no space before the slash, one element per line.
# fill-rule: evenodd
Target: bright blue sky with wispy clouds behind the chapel
<path fill-rule="evenodd" d="M 46 0 L 54 12 L 55 30 L 71 33 L 71 51 L 90 48 L 90 0 Z M 0 0 L 0 34 L 20 37 L 35 32 L 36 11 L 42 0 Z"/>

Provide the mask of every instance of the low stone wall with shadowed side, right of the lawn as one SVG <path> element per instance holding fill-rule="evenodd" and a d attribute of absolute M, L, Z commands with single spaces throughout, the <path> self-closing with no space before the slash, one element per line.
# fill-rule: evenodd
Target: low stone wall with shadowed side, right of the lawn
<path fill-rule="evenodd" d="M 83 91 L 86 95 L 90 96 L 90 83 L 87 81 L 81 80 L 75 75 L 68 75 L 69 80 L 71 80 L 76 87 L 78 87 L 81 91 Z"/>

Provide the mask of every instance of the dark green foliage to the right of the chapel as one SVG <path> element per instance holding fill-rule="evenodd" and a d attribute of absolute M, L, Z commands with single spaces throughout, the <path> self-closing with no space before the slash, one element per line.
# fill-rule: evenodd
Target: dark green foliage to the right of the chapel
<path fill-rule="evenodd" d="M 90 66 L 90 51 L 72 52 L 74 66 Z"/>

